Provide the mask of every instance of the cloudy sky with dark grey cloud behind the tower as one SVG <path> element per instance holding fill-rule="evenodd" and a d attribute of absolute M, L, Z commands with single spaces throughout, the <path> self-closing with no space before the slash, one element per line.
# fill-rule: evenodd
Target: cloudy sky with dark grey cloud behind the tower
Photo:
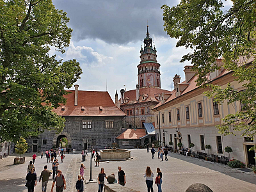
<path fill-rule="evenodd" d="M 79 61 L 83 74 L 77 81 L 79 90 L 108 92 L 111 98 L 126 86 L 138 84 L 141 40 L 149 33 L 155 41 L 157 61 L 161 64 L 161 88 L 171 90 L 172 79 L 184 79 L 184 65 L 179 63 L 188 50 L 175 47 L 177 40 L 163 31 L 161 6 L 175 6 L 179 0 L 53 0 L 57 9 L 67 12 L 68 26 L 73 29 L 70 46 L 65 54 L 51 51 L 63 60 Z M 72 88 L 74 89 L 74 88 Z"/>

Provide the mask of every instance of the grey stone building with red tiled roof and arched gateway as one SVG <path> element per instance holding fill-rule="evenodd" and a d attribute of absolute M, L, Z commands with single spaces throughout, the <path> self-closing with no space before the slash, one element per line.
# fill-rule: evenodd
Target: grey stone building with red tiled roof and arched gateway
<path fill-rule="evenodd" d="M 81 151 L 89 148 L 111 146 L 115 138 L 125 129 L 122 118 L 125 113 L 116 108 L 108 92 L 68 91 L 67 104 L 54 109 L 65 118 L 65 128 L 60 134 L 45 131 L 37 138 L 27 140 L 29 152 L 41 152 L 60 145 L 61 138 L 67 138 L 68 146 Z"/>

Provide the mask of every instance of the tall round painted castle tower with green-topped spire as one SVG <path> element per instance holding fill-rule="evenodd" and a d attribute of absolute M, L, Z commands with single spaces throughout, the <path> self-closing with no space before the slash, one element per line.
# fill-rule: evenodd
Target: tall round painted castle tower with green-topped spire
<path fill-rule="evenodd" d="M 160 82 L 160 64 L 157 63 L 156 48 L 152 47 L 152 38 L 147 33 L 146 38 L 144 38 L 144 49 L 141 45 L 140 50 L 140 64 L 138 67 L 138 84 L 140 88 L 144 87 L 157 87 L 161 88 Z"/>

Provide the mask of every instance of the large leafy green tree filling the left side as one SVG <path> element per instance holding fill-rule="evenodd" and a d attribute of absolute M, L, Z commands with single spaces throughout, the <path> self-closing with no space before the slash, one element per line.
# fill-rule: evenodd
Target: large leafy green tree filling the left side
<path fill-rule="evenodd" d="M 17 141 L 45 129 L 61 132 L 65 119 L 52 112 L 65 103 L 82 73 L 76 60 L 56 60 L 72 29 L 51 0 L 0 0 L 0 135 Z"/>

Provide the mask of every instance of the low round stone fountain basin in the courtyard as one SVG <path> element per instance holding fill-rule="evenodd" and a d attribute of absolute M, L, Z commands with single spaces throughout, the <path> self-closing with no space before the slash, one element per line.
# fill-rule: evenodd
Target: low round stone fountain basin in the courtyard
<path fill-rule="evenodd" d="M 131 151 L 126 149 L 104 149 L 100 150 L 100 157 L 106 161 L 122 161 L 131 159 Z"/>

